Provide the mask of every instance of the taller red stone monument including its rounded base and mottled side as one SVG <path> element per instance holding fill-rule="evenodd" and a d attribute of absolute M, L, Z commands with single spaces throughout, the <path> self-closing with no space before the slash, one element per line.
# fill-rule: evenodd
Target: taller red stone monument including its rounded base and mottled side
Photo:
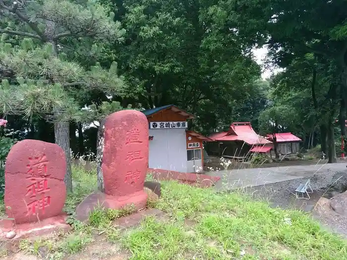
<path fill-rule="evenodd" d="M 109 115 L 98 133 L 98 188 L 77 207 L 85 220 L 97 207 L 146 206 L 144 181 L 148 168 L 148 121 L 137 110 Z"/>

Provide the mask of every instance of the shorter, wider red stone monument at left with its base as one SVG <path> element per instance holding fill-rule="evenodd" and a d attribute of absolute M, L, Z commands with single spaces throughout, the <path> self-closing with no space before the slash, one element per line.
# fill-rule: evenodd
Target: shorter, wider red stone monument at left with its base
<path fill-rule="evenodd" d="M 5 165 L 8 218 L 0 221 L 0 237 L 9 231 L 19 237 L 68 228 L 62 213 L 65 172 L 65 155 L 58 145 L 38 140 L 15 144 Z"/>

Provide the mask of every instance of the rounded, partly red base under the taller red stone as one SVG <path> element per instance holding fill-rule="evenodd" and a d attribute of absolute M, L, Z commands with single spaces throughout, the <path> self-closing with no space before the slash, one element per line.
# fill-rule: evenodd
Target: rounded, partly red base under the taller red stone
<path fill-rule="evenodd" d="M 100 191 L 88 195 L 76 208 L 76 219 L 85 221 L 96 208 L 120 209 L 134 205 L 136 209 L 144 208 L 147 204 L 147 193 L 143 190 L 126 196 L 113 196 Z"/>

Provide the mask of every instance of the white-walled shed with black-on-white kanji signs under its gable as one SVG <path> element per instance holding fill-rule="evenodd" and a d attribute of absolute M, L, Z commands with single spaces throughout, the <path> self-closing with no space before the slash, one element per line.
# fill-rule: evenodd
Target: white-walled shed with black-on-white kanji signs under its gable
<path fill-rule="evenodd" d="M 149 127 L 149 168 L 177 172 L 202 171 L 203 142 L 212 141 L 187 130 L 195 116 L 170 104 L 142 111 Z"/>

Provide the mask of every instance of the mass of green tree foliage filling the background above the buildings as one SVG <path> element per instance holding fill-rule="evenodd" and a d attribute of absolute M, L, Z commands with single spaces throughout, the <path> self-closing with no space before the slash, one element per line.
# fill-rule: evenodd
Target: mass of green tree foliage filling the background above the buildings
<path fill-rule="evenodd" d="M 95 154 L 90 126 L 108 114 L 175 104 L 197 116 L 189 127 L 204 135 L 250 121 L 261 134 L 321 144 L 331 162 L 347 139 L 335 122 L 347 110 L 344 0 L 0 5 L 0 113 L 24 138 L 55 142 L 54 124 L 68 122 L 72 152 Z M 264 46 L 261 67 L 252 51 Z M 261 79 L 266 66 L 282 70 Z"/>

